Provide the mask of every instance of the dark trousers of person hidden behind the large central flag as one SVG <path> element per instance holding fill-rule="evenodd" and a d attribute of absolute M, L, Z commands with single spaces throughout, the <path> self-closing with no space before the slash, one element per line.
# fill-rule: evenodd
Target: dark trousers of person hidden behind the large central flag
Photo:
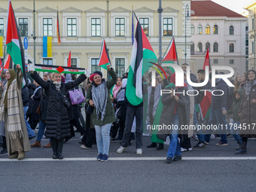
<path fill-rule="evenodd" d="M 143 146 L 143 107 L 135 108 L 128 105 L 126 109 L 126 121 L 123 131 L 123 140 L 121 143 L 123 148 L 127 148 L 129 145 L 134 116 L 136 117 L 136 148 L 142 148 Z"/>

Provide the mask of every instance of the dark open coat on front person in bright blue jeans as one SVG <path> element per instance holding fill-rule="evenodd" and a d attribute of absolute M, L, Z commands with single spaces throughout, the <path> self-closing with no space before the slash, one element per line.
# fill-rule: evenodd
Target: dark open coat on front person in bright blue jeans
<path fill-rule="evenodd" d="M 175 89 L 174 87 L 169 87 L 167 86 L 165 90 L 171 90 Z M 178 109 L 178 123 L 179 123 L 179 134 L 181 137 L 181 142 L 184 139 L 187 139 L 187 130 L 181 130 L 181 125 L 189 125 L 189 120 L 190 120 L 190 98 L 187 96 L 187 87 L 178 87 L 178 92 L 183 92 L 179 93 L 178 98 L 179 101 L 176 102 L 175 97 L 173 96 L 171 98 L 171 93 L 163 93 L 162 95 L 162 103 L 163 103 L 163 110 L 161 112 L 160 116 L 160 125 L 171 125 L 172 122 L 172 117 L 174 115 L 175 111 L 175 104 L 177 104 L 177 109 Z M 175 91 L 177 92 L 177 90 Z M 172 133 L 172 130 L 159 130 L 157 133 L 157 137 L 162 140 L 166 140 L 166 135 L 169 135 Z"/>

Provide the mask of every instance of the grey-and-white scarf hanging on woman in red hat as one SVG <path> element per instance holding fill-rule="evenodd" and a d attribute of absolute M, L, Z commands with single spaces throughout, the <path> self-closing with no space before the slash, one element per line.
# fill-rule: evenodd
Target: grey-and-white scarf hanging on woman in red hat
<path fill-rule="evenodd" d="M 101 120 L 103 120 L 105 117 L 108 99 L 108 88 L 104 80 L 102 80 L 102 83 L 99 84 L 97 87 L 93 84 L 92 96 L 94 106 L 96 107 L 96 120 L 99 119 L 99 114 L 102 115 Z"/>

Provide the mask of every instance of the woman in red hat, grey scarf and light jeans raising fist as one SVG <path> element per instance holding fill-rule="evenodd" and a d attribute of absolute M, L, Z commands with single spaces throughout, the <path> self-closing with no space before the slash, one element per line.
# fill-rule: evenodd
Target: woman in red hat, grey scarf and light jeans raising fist
<path fill-rule="evenodd" d="M 116 120 L 110 99 L 110 90 L 117 81 L 117 75 L 110 65 L 107 66 L 107 69 L 111 76 L 109 81 L 102 79 L 101 72 L 93 72 L 93 75 L 90 75 L 90 81 L 93 84 L 88 88 L 85 99 L 85 102 L 93 107 L 93 124 L 98 148 L 97 160 L 100 161 L 108 161 L 109 133 L 112 123 Z"/>

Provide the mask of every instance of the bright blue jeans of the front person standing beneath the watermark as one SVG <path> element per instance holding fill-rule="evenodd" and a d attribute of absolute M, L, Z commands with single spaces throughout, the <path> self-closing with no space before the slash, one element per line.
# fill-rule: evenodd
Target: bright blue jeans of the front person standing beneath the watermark
<path fill-rule="evenodd" d="M 175 113 L 175 115 L 172 117 L 171 125 L 173 124 L 173 127 L 175 125 L 178 126 L 178 129 L 172 130 L 172 134 L 169 135 L 170 142 L 169 142 L 169 148 L 167 151 L 167 157 L 173 158 L 174 156 L 181 156 L 181 145 L 178 142 L 178 130 L 179 130 L 179 124 L 178 124 L 178 111 Z"/>

